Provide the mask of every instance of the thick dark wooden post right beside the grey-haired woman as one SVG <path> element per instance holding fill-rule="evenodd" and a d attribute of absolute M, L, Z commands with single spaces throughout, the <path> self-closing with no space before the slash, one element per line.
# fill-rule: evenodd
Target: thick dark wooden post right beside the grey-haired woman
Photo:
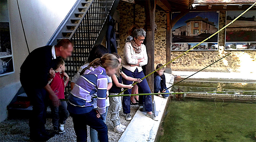
<path fill-rule="evenodd" d="M 145 16 L 146 16 L 146 48 L 148 54 L 148 64 L 146 65 L 146 74 L 154 71 L 154 56 L 155 56 L 155 0 L 145 1 Z M 151 93 L 154 93 L 154 75 L 147 77 Z M 152 101 L 154 96 L 152 96 Z"/>

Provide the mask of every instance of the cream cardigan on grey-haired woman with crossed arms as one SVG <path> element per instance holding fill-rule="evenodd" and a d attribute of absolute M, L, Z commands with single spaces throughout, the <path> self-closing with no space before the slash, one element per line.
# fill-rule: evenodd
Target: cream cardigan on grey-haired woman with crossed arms
<path fill-rule="evenodd" d="M 136 68 L 138 68 L 138 72 L 142 71 L 142 66 L 148 64 L 148 55 L 147 55 L 147 50 L 146 46 L 144 44 L 141 44 L 141 52 L 140 53 L 135 53 L 132 45 L 130 42 L 126 43 L 123 49 L 123 67 L 130 70 L 131 72 L 134 72 Z M 138 63 L 138 59 L 144 58 L 145 60 L 143 62 L 139 63 L 139 66 L 134 66 L 131 67 L 131 65 L 135 65 Z"/>

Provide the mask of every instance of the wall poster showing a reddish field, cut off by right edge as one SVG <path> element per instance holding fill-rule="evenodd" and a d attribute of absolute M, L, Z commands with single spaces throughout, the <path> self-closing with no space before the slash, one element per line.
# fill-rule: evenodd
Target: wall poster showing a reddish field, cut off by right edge
<path fill-rule="evenodd" d="M 227 11 L 226 24 L 243 11 Z M 256 50 L 256 11 L 250 10 L 226 28 L 225 50 Z"/>

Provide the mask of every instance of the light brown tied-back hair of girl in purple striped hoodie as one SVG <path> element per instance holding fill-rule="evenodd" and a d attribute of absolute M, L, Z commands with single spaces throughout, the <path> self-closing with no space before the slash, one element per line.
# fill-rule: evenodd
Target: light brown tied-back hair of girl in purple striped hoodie
<path fill-rule="evenodd" d="M 84 74 L 84 71 L 90 67 L 95 68 L 97 66 L 101 66 L 102 68 L 119 68 L 119 65 L 120 62 L 116 56 L 114 56 L 113 54 L 106 53 L 101 58 L 96 58 L 95 60 L 93 60 L 87 68 L 84 68 L 81 71 L 80 75 Z"/>

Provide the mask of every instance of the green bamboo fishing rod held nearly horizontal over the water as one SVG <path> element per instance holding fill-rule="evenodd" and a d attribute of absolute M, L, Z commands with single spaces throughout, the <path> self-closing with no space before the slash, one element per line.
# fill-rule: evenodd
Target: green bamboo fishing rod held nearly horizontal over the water
<path fill-rule="evenodd" d="M 211 92 L 170 92 L 170 93 L 147 93 L 147 94 L 122 94 L 122 95 L 109 95 L 108 97 L 120 97 L 120 96 L 142 96 L 142 95 L 158 95 L 158 94 L 195 94 L 195 93 L 255 93 L 256 91 L 211 91 Z M 92 98 L 97 98 L 96 96 Z M 61 99 L 61 101 L 68 101 L 68 99 Z"/>

